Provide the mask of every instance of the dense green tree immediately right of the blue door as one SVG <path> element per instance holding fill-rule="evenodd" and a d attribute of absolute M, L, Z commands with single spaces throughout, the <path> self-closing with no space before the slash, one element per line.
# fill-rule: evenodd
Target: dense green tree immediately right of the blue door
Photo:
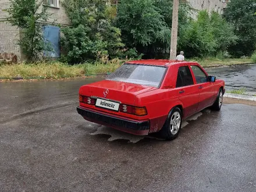
<path fill-rule="evenodd" d="M 113 26 L 113 10 L 102 0 L 65 0 L 71 27 L 63 27 L 62 46 L 69 63 L 101 56 L 113 57 L 123 47 L 120 30 Z"/>

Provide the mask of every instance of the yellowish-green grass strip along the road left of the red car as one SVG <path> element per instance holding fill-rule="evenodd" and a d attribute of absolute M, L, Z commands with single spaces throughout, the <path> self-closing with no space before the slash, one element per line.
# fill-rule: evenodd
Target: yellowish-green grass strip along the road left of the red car
<path fill-rule="evenodd" d="M 12 77 L 23 77 L 24 79 L 62 79 L 70 77 L 82 77 L 99 73 L 111 73 L 115 71 L 122 62 L 113 60 L 108 64 L 67 65 L 61 62 L 38 63 L 38 64 L 16 64 L 0 65 L 0 79 Z"/>

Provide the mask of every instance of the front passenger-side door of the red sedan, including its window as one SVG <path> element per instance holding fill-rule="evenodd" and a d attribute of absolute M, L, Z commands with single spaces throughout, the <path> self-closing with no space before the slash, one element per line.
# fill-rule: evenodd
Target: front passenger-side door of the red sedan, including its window
<path fill-rule="evenodd" d="M 207 108 L 211 103 L 214 96 L 214 84 L 209 82 L 207 74 L 201 67 L 191 65 L 195 83 L 199 90 L 199 105 L 197 111 Z"/>

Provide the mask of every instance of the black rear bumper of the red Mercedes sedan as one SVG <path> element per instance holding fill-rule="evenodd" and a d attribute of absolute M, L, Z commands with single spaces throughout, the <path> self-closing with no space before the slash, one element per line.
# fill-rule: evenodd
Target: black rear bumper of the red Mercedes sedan
<path fill-rule="evenodd" d="M 126 133 L 145 136 L 150 131 L 149 120 L 136 121 L 136 120 L 118 118 L 116 116 L 111 116 L 105 113 L 92 111 L 91 109 L 86 109 L 80 106 L 77 106 L 77 112 L 81 116 L 83 116 L 84 119 L 90 122 L 109 126 L 109 127 L 112 127 L 113 129 L 125 131 Z"/>

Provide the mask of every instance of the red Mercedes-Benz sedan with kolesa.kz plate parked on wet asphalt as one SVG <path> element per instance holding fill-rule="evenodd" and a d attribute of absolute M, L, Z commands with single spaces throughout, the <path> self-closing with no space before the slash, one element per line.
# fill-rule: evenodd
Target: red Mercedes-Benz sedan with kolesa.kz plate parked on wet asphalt
<path fill-rule="evenodd" d="M 182 120 L 211 106 L 219 111 L 225 82 L 196 62 L 124 63 L 105 80 L 81 86 L 77 112 L 84 119 L 137 135 L 176 138 Z"/>

